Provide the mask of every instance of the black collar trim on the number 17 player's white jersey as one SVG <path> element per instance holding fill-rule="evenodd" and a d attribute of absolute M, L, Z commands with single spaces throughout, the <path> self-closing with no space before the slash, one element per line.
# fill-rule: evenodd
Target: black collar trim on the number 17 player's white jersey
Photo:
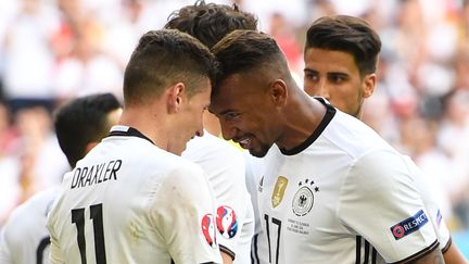
<path fill-rule="evenodd" d="M 313 134 L 308 138 L 306 138 L 306 140 L 303 143 L 301 143 L 300 146 L 296 146 L 290 150 L 280 149 L 280 152 L 282 154 L 295 155 L 295 154 L 302 152 L 303 150 L 305 150 L 306 148 L 308 148 L 322 134 L 322 131 L 326 129 L 326 127 L 329 125 L 329 123 L 332 121 L 333 116 L 335 115 L 335 112 L 337 112 L 335 109 L 329 102 L 327 102 L 324 98 L 320 98 L 320 97 L 316 98 L 315 97 L 314 99 L 318 100 L 319 102 L 321 102 L 326 106 L 326 114 L 322 117 L 322 121 L 319 123 L 316 130 L 314 130 Z"/>

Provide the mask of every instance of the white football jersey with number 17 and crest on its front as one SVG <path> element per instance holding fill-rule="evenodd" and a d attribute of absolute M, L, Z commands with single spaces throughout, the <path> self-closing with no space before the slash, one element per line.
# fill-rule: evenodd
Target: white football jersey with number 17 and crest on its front
<path fill-rule="evenodd" d="M 439 247 L 403 155 L 327 109 L 303 144 L 266 156 L 258 205 L 268 263 L 393 263 Z"/>

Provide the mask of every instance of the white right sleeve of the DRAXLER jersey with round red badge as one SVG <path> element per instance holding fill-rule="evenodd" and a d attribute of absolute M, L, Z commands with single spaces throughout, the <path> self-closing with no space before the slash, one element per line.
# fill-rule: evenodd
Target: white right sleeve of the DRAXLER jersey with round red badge
<path fill-rule="evenodd" d="M 175 263 L 221 263 L 215 199 L 198 165 L 185 163 L 166 176 L 153 202 L 151 217 Z"/>

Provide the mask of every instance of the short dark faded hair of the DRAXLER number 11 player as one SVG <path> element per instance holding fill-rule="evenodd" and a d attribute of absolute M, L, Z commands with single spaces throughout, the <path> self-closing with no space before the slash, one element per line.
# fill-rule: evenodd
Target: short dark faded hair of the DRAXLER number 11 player
<path fill-rule="evenodd" d="M 216 60 L 195 38 L 175 29 L 144 34 L 124 73 L 124 103 L 139 104 L 164 88 L 185 83 L 188 95 L 200 92 L 203 77 L 213 80 Z"/>

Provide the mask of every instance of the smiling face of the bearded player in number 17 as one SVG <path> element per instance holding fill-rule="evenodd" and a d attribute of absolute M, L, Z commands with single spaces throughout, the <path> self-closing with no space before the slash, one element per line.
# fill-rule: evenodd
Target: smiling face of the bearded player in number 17
<path fill-rule="evenodd" d="M 270 85 L 254 74 L 233 74 L 212 93 L 210 111 L 220 121 L 224 138 L 254 156 L 264 156 L 280 131 Z"/>

